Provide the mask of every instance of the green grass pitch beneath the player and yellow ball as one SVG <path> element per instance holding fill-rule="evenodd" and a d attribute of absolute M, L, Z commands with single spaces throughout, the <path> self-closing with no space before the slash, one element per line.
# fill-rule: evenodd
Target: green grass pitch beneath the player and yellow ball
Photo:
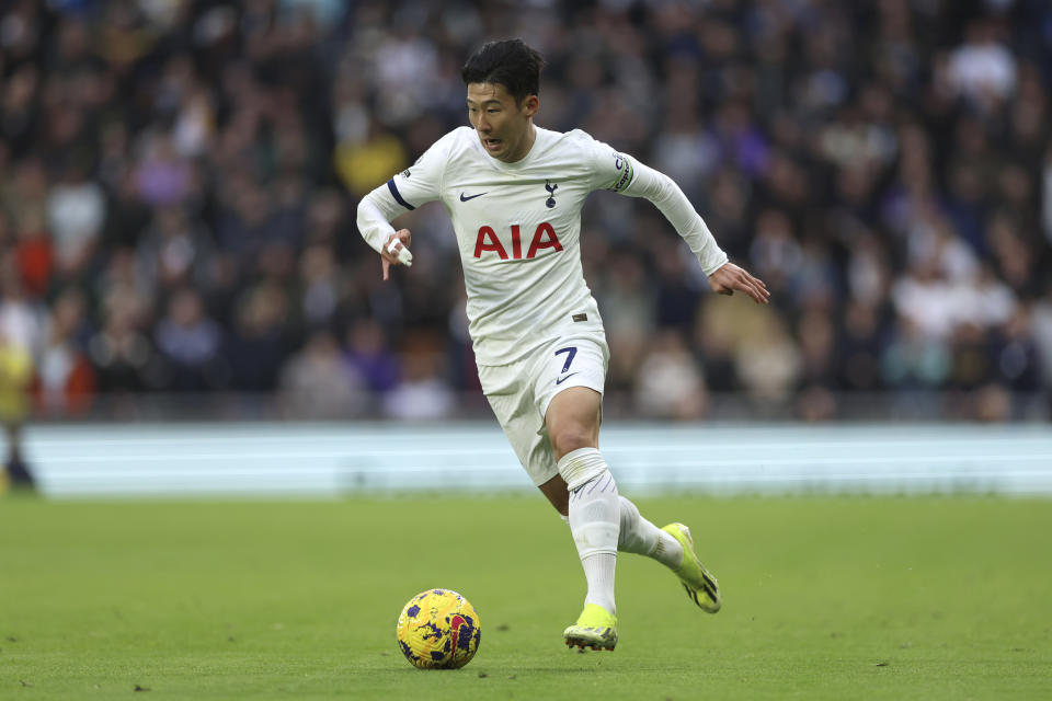
<path fill-rule="evenodd" d="M 1052 698 L 1049 502 L 638 503 L 691 526 L 724 609 L 625 555 L 617 651 L 581 654 L 583 577 L 540 495 L 0 499 L 0 698 Z M 434 586 L 481 618 L 461 670 L 395 644 Z"/>

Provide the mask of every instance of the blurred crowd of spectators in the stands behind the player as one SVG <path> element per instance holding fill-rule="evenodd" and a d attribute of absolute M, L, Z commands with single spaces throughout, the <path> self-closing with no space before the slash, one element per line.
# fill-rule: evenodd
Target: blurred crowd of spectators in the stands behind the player
<path fill-rule="evenodd" d="M 1047 0 L 3 0 L 0 411 L 477 400 L 446 212 L 399 221 L 384 284 L 354 211 L 512 36 L 548 61 L 540 126 L 672 176 L 773 292 L 717 298 L 655 208 L 594 195 L 611 410 L 1048 417 Z"/>

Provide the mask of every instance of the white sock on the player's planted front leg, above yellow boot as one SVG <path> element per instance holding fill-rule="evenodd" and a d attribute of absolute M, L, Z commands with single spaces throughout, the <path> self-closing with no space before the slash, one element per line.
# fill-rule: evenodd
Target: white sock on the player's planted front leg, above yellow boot
<path fill-rule="evenodd" d="M 560 474 L 594 473 L 591 480 L 570 490 L 570 532 L 578 547 L 584 578 L 588 584 L 585 604 L 597 604 L 617 613 L 614 576 L 620 531 L 617 483 L 595 448 L 568 452 L 559 461 Z"/>

